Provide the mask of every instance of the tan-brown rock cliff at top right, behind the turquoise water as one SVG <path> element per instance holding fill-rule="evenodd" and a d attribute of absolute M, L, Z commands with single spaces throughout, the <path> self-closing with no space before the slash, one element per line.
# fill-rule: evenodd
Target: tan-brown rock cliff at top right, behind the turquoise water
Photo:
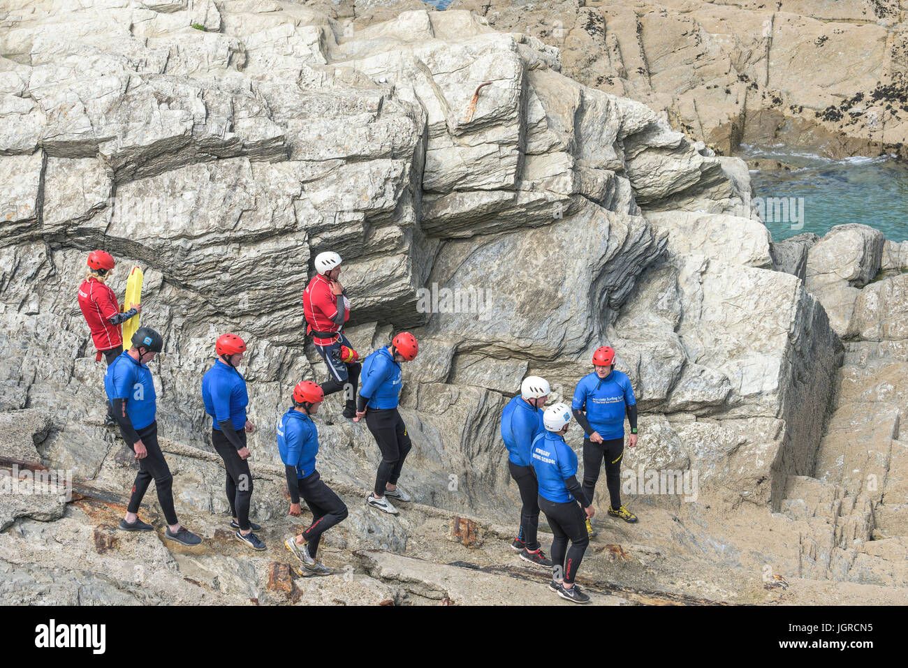
<path fill-rule="evenodd" d="M 421 2 L 307 4 L 359 27 Z M 454 0 L 451 9 L 557 46 L 563 74 L 646 103 L 725 155 L 740 142 L 906 155 L 898 0 Z"/>

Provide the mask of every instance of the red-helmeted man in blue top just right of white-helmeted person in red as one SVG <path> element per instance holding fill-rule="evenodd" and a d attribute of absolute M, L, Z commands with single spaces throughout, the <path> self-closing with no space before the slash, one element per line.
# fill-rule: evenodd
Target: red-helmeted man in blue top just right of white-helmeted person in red
<path fill-rule="evenodd" d="M 419 343 L 409 331 L 402 331 L 390 346 L 382 346 L 362 362 L 360 396 L 354 422 L 366 418 L 366 427 L 381 450 L 381 463 L 375 474 L 375 487 L 366 503 L 383 513 L 397 515 L 388 497 L 410 501 L 410 495 L 397 486 L 403 462 L 410 452 L 407 426 L 398 412 L 400 365 L 416 359 Z"/>

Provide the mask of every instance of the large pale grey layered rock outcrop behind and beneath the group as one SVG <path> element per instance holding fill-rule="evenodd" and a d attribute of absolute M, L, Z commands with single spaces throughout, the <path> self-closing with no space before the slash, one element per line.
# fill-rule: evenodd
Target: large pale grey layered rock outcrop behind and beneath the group
<path fill-rule="evenodd" d="M 0 501 L 5 591 L 69 602 L 538 596 L 500 565 L 517 500 L 498 416 L 528 373 L 569 398 L 604 342 L 643 411 L 645 447 L 627 466 L 696 470 L 702 496 L 641 494 L 646 528 L 617 527 L 628 549 L 590 558 L 598 600 L 763 600 L 777 594 L 760 581 L 767 561 L 804 575 L 797 526 L 773 511 L 793 476 L 814 475 L 842 344 L 803 280 L 774 269 L 742 162 L 561 74 L 558 49 L 469 12 L 421 9 L 350 31 L 287 2 L 48 0 L 7 3 L 3 21 L 0 455 L 71 470 L 78 484 L 69 504 Z M 178 510 L 207 539 L 194 551 L 108 528 L 134 465 L 103 427 L 103 368 L 74 299 L 96 247 L 120 263 L 119 294 L 122 268 L 145 269 L 143 324 L 165 339 L 154 369 L 163 447 Z M 277 549 L 291 525 L 274 424 L 292 385 L 325 373 L 304 345 L 301 290 L 329 249 L 344 258 L 360 353 L 392 329 L 419 338 L 401 400 L 415 445 L 401 484 L 418 503 L 399 518 L 363 507 L 377 447 L 327 401 L 320 469 L 351 513 L 328 541 L 344 574 L 312 584 L 294 581 Z M 251 350 L 265 556 L 224 533 L 199 396 L 227 330 Z M 754 518 L 783 530 L 748 552 L 753 532 L 735 526 Z M 695 576 L 735 541 L 720 551 L 721 577 Z M 489 578 L 484 589 L 467 563 Z M 614 595 L 615 582 L 638 597 Z M 821 595 L 799 586 L 798 600 Z"/>

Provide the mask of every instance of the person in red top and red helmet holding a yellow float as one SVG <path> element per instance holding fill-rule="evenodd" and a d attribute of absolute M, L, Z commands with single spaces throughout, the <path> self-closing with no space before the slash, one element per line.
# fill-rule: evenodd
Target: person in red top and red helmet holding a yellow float
<path fill-rule="evenodd" d="M 92 332 L 92 341 L 97 355 L 94 360 L 101 361 L 101 356 L 107 366 L 123 352 L 123 333 L 120 326 L 135 314 L 142 312 L 142 304 L 130 304 L 130 309 L 125 313 L 120 312 L 114 290 L 107 285 L 107 280 L 114 271 L 114 258 L 106 251 L 92 251 L 88 254 L 88 270 L 85 271 L 85 280 L 79 286 L 79 308 L 88 328 Z M 107 426 L 115 426 L 114 408 L 107 402 Z"/>

